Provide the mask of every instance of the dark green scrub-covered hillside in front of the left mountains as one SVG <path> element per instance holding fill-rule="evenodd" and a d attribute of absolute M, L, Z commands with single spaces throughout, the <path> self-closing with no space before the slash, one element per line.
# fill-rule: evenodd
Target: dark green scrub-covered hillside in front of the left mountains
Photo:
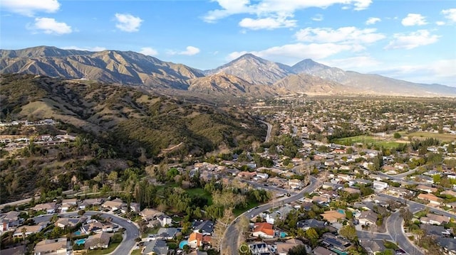
<path fill-rule="evenodd" d="M 259 122 L 234 107 L 213 107 L 84 80 L 35 75 L 1 75 L 0 79 L 1 121 L 59 122 L 40 129 L 0 127 L 2 135 L 31 138 L 68 133 L 79 138 L 59 146 L 26 146 L 6 156 L 2 150 L 1 202 L 41 188 L 65 190 L 73 175 L 83 181 L 113 168 L 160 163 L 164 158 L 197 158 L 219 149 L 248 148 L 266 135 Z M 43 181 L 36 182 L 33 176 Z M 69 179 L 51 182 L 58 178 Z M 24 185 L 13 182 L 16 179 Z"/>

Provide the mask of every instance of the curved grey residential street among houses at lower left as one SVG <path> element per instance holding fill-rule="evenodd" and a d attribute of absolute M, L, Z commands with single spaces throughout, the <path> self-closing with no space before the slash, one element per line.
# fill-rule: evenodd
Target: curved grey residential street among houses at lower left
<path fill-rule="evenodd" d="M 111 215 L 108 213 L 104 212 L 95 212 L 95 211 L 88 211 L 86 212 L 87 216 L 91 215 L 97 215 L 100 214 L 101 217 L 112 217 L 113 221 L 115 224 L 119 224 L 120 227 L 125 228 L 125 235 L 123 238 L 122 243 L 119 244 L 119 246 L 113 251 L 111 254 L 130 254 L 131 249 L 133 249 L 133 246 L 136 245 L 135 239 L 140 236 L 140 232 L 138 227 L 135 226 L 132 222 L 128 222 L 127 219 L 124 219 L 122 217 L 118 217 L 117 215 Z M 76 216 L 78 215 L 78 212 L 65 212 L 61 215 L 60 217 L 69 217 L 69 216 Z"/>

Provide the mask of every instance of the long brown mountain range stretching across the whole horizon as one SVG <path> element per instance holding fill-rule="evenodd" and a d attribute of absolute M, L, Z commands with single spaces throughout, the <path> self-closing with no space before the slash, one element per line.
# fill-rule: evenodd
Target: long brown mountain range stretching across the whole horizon
<path fill-rule="evenodd" d="M 456 87 L 345 71 L 310 59 L 289 66 L 249 53 L 212 70 L 198 70 L 133 51 L 90 52 L 38 46 L 0 50 L 0 73 L 97 80 L 214 96 L 269 97 L 298 92 L 309 95 L 456 96 Z"/>

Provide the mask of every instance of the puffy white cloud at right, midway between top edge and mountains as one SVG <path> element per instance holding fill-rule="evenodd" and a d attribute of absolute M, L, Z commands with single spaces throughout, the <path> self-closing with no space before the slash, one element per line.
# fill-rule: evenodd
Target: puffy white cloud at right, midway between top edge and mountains
<path fill-rule="evenodd" d="M 427 30 L 418 30 L 411 33 L 395 33 L 394 39 L 386 45 L 385 49 L 411 50 L 424 45 L 436 43 L 440 36 L 431 35 Z"/>

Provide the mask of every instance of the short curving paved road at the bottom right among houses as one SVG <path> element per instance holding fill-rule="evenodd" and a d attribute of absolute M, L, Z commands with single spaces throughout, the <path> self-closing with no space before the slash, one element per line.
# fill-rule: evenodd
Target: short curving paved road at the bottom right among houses
<path fill-rule="evenodd" d="M 403 229 L 404 219 L 400 216 L 400 212 L 394 212 L 393 214 L 386 219 L 386 229 L 390 233 L 390 236 L 393 237 L 393 240 L 403 249 L 407 254 L 411 255 L 424 255 L 417 246 L 415 246 L 407 236 Z"/>

